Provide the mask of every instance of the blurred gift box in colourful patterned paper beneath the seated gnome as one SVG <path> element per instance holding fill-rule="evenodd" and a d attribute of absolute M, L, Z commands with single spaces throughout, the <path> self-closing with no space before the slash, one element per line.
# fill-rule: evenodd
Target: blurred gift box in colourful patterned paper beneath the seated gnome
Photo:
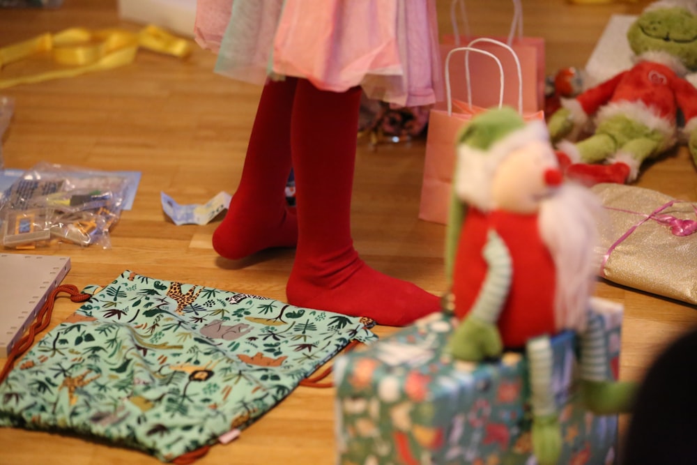
<path fill-rule="evenodd" d="M 602 321 L 616 378 L 620 307 Z M 526 358 L 454 363 L 443 352 L 453 320 L 434 314 L 341 356 L 337 377 L 339 464 L 530 464 L 531 414 Z M 553 338 L 553 383 L 562 438 L 560 464 L 613 464 L 617 416 L 595 416 L 579 403 L 576 335 Z"/>

